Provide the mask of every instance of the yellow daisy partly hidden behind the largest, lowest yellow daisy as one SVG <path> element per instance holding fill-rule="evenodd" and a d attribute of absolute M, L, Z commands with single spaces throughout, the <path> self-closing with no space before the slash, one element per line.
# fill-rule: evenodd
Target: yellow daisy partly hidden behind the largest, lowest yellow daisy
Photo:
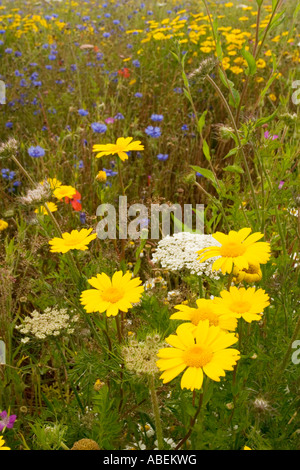
<path fill-rule="evenodd" d="M 200 321 L 208 320 L 210 326 L 219 326 L 221 330 L 234 331 L 237 327 L 237 319 L 234 315 L 224 315 L 222 312 L 216 311 L 213 299 L 196 300 L 197 308 L 188 305 L 175 305 L 179 312 L 171 315 L 172 320 L 187 320 L 197 327 Z"/>

